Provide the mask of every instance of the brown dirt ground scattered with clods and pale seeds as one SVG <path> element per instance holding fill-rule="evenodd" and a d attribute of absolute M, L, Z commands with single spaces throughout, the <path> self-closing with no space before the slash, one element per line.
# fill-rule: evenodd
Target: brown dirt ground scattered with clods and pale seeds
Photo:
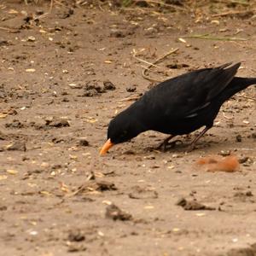
<path fill-rule="evenodd" d="M 191 153 L 199 131 L 166 152 L 148 131 L 99 156 L 161 56 L 151 79 L 229 61 L 256 76 L 255 15 L 53 3 L 0 2 L 0 254 L 256 255 L 254 85 Z M 195 164 L 228 154 L 239 171 Z"/>

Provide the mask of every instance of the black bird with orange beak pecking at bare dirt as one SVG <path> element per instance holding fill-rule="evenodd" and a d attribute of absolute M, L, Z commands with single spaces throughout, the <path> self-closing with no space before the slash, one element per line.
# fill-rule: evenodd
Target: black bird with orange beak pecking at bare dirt
<path fill-rule="evenodd" d="M 110 121 L 108 141 L 100 154 L 143 131 L 153 130 L 171 135 L 161 143 L 166 147 L 172 137 L 205 126 L 190 144 L 189 149 L 192 150 L 195 143 L 212 128 L 222 104 L 238 91 L 256 84 L 256 78 L 235 77 L 240 65 L 227 63 L 220 67 L 199 69 L 154 86 Z"/>

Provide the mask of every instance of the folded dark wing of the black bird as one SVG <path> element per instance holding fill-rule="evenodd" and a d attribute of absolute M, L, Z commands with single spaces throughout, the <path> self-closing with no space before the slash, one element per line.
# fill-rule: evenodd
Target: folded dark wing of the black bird
<path fill-rule="evenodd" d="M 241 63 L 185 73 L 156 85 L 142 98 L 152 115 L 173 119 L 196 115 L 226 88 Z"/>

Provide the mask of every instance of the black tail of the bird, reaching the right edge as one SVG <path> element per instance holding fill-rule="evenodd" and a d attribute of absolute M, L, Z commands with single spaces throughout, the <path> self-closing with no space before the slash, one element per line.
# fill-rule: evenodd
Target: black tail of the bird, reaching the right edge
<path fill-rule="evenodd" d="M 235 77 L 234 79 L 232 79 L 230 84 L 225 88 L 224 95 L 226 96 L 226 99 L 228 99 L 240 90 L 244 90 L 252 84 L 256 84 L 256 78 L 247 79 Z"/>

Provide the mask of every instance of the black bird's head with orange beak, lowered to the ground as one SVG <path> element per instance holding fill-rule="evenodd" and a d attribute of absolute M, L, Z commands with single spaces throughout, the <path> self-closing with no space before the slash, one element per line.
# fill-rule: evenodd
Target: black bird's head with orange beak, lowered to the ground
<path fill-rule="evenodd" d="M 125 143 L 142 131 L 143 127 L 135 115 L 126 111 L 119 113 L 108 125 L 108 141 L 103 145 L 100 154 L 106 154 L 113 145 Z"/>

